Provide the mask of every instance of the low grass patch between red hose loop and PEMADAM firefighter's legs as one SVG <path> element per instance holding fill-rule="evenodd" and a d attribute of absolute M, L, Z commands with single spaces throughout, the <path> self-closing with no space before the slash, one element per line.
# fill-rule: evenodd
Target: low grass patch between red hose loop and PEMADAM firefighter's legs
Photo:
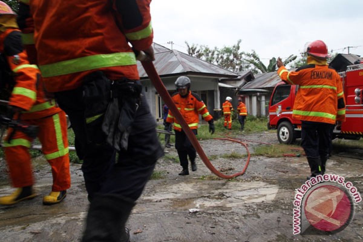
<path fill-rule="evenodd" d="M 294 151 L 291 149 L 301 148 L 298 145 L 260 145 L 254 148 L 253 156 L 266 156 L 266 157 L 282 157 L 284 154 L 301 154 L 303 151 Z"/>

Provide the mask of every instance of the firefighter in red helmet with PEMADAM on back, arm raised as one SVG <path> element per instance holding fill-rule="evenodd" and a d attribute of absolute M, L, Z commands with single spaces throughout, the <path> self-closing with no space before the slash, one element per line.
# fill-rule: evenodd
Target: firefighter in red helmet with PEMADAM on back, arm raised
<path fill-rule="evenodd" d="M 325 173 L 328 159 L 329 133 L 336 122 L 345 120 L 345 102 L 339 74 L 327 65 L 328 49 L 321 40 L 306 49 L 307 65 L 296 71 L 286 70 L 278 58 L 278 74 L 282 81 L 299 85 L 293 118 L 301 120 L 301 145 L 306 153 L 311 176 Z"/>

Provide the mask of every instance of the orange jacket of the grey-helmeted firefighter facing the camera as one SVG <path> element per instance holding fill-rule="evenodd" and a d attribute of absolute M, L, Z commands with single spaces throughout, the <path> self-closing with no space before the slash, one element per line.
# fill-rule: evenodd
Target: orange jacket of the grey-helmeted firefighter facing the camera
<path fill-rule="evenodd" d="M 172 99 L 192 130 L 198 128 L 199 114 L 202 115 L 204 120 L 207 122 L 213 119 L 212 115 L 209 114 L 204 102 L 196 93 L 189 91 L 188 96 L 185 98 L 182 98 L 179 93 L 175 93 L 172 95 Z M 178 120 L 174 118 L 170 110 L 166 118 L 166 122 L 174 123 L 174 130 L 181 131 L 181 126 L 178 123 Z"/>

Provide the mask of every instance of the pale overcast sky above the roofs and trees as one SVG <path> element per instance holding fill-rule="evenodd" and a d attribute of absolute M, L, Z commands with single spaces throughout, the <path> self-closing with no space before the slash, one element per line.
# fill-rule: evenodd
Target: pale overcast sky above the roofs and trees
<path fill-rule="evenodd" d="M 363 0 L 152 0 L 154 41 L 187 52 L 189 44 L 252 49 L 262 61 L 299 54 L 308 41 L 363 56 Z M 338 49 L 338 50 L 337 50 Z M 266 59 L 266 60 L 265 60 Z"/>

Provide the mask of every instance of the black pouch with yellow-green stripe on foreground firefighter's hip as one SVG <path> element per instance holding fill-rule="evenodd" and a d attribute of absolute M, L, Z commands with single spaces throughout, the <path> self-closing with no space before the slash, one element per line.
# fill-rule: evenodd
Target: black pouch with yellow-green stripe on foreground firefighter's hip
<path fill-rule="evenodd" d="M 104 144 L 106 134 L 101 126 L 111 100 L 111 80 L 102 71 L 95 71 L 83 79 L 82 91 L 87 141 Z"/>

